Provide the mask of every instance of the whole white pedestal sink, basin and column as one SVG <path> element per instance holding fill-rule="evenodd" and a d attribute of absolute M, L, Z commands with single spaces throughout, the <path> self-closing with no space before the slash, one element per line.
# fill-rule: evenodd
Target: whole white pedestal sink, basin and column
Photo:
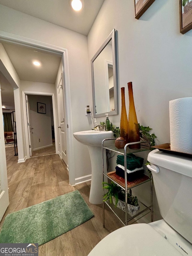
<path fill-rule="evenodd" d="M 103 165 L 101 143 L 104 139 L 113 138 L 112 131 L 79 131 L 74 132 L 73 136 L 80 143 L 87 145 L 91 158 L 91 189 L 89 202 L 92 204 L 102 203 L 103 201 Z"/>

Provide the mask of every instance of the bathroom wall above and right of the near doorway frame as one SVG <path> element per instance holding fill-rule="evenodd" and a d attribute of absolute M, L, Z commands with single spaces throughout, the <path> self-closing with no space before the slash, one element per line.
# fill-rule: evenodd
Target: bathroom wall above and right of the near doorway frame
<path fill-rule="evenodd" d="M 0 5 L 0 31 L 67 49 L 72 129 L 75 132 L 93 128 L 91 117 L 85 116 L 85 107 L 92 102 L 88 97 L 91 88 L 88 86 L 90 62 L 88 62 L 87 37 L 3 5 Z M 77 142 L 75 138 L 73 146 L 75 177 L 89 175 L 91 162 L 87 157 L 88 148 Z"/>

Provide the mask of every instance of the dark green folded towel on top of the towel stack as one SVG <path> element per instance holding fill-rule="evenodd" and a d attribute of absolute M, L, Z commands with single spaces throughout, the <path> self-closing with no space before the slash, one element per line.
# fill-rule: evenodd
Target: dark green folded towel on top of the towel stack
<path fill-rule="evenodd" d="M 144 159 L 134 154 L 127 154 L 127 169 L 134 170 L 143 166 Z M 124 155 L 117 155 L 117 164 L 124 166 Z"/>

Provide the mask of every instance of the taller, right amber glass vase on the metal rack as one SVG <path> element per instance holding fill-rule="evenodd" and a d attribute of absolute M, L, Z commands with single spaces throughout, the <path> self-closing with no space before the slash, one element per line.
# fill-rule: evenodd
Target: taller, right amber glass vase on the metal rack
<path fill-rule="evenodd" d="M 135 104 L 133 98 L 132 82 L 128 83 L 129 92 L 129 125 L 128 125 L 128 142 L 140 141 L 139 127 L 137 122 L 137 115 L 135 111 Z M 130 149 L 140 149 L 140 144 L 129 145 Z"/>

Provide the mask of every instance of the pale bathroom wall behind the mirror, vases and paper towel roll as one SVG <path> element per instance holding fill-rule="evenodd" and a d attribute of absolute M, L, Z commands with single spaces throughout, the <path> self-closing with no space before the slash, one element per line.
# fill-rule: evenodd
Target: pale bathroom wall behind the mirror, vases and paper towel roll
<path fill-rule="evenodd" d="M 192 96 L 192 30 L 185 35 L 179 32 L 179 1 L 155 1 L 137 20 L 134 1 L 105 0 L 88 34 L 89 60 L 113 28 L 117 30 L 119 110 L 120 88 L 125 87 L 128 113 L 127 83 L 132 81 L 138 122 L 153 128 L 157 145 L 169 143 L 169 101 Z M 119 126 L 120 116 L 110 116 L 110 121 Z M 146 187 L 142 189 L 137 193 L 144 194 Z M 154 211 L 155 219 L 160 218 L 156 203 Z"/>

